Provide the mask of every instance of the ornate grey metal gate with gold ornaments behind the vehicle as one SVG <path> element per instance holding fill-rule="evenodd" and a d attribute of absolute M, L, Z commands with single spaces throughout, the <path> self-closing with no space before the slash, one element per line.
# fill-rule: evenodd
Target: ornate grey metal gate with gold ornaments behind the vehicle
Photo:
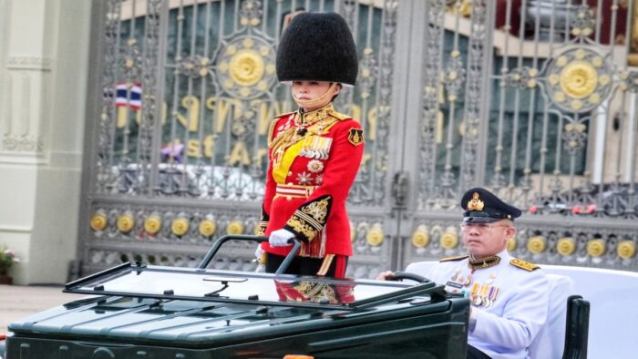
<path fill-rule="evenodd" d="M 623 3 L 623 2 L 620 2 Z M 459 193 L 526 214 L 534 262 L 635 270 L 632 4 L 487 0 L 95 0 L 80 272 L 194 266 L 258 224 L 277 41 L 300 11 L 344 15 L 357 86 L 336 107 L 365 130 L 348 200 L 348 275 L 463 251 Z M 218 268 L 251 270 L 235 243 Z M 77 273 L 79 274 L 79 273 Z"/>

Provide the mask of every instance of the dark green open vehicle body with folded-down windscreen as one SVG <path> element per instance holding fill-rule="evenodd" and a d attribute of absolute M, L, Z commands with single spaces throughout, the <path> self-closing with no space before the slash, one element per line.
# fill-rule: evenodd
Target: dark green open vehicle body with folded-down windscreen
<path fill-rule="evenodd" d="M 68 283 L 92 296 L 9 324 L 5 358 L 466 357 L 468 300 L 434 282 L 207 269 L 221 243 L 197 269 L 126 263 Z"/>

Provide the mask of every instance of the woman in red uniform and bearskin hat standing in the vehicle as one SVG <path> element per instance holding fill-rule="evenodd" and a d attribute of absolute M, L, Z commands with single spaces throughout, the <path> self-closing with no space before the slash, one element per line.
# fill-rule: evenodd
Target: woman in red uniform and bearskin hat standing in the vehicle
<path fill-rule="evenodd" d="M 352 255 L 345 200 L 364 153 L 358 122 L 334 110 L 343 86 L 354 86 L 357 58 L 344 19 L 295 15 L 277 50 L 277 77 L 292 83 L 299 109 L 273 119 L 262 205 L 266 272 L 275 272 L 302 241 L 288 273 L 344 277 Z"/>

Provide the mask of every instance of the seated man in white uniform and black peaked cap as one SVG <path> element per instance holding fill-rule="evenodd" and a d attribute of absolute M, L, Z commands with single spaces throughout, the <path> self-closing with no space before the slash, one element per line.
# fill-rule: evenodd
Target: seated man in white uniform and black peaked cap
<path fill-rule="evenodd" d="M 469 298 L 468 358 L 527 358 L 547 319 L 549 283 L 537 265 L 512 258 L 506 249 L 521 212 L 481 188 L 468 190 L 461 207 L 468 255 L 444 258 L 423 274 Z"/>

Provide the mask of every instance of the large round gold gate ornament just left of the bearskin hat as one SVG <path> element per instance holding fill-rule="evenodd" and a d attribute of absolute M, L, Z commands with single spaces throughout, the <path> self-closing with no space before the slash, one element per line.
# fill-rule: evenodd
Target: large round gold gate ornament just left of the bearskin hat
<path fill-rule="evenodd" d="M 261 37 L 238 36 L 217 53 L 215 74 L 232 97 L 259 97 L 276 82 L 274 57 L 273 46 Z"/>

